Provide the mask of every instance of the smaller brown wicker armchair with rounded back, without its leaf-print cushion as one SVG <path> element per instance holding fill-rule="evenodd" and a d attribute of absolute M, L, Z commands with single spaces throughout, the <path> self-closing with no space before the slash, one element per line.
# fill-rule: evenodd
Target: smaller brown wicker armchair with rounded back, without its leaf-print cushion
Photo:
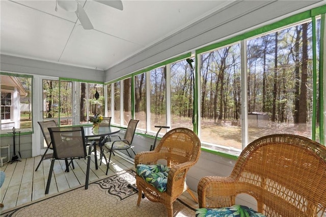
<path fill-rule="evenodd" d="M 170 168 L 165 192 L 147 183 L 143 177 L 136 175 L 139 189 L 137 205 L 140 205 L 142 193 L 152 202 L 159 202 L 167 207 L 168 216 L 173 215 L 173 202 L 188 189 L 185 184 L 186 174 L 196 164 L 200 155 L 200 140 L 194 131 L 186 128 L 175 128 L 167 132 L 153 151 L 138 153 L 134 163 L 138 165 L 155 165 L 166 161 Z M 196 198 L 197 200 L 197 198 Z"/>

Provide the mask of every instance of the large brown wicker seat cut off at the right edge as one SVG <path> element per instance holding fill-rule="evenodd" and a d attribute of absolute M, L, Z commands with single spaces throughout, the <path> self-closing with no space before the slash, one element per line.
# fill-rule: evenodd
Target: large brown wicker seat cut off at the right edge
<path fill-rule="evenodd" d="M 232 206 L 246 193 L 266 216 L 324 216 L 326 147 L 298 135 L 267 135 L 242 151 L 230 176 L 203 177 L 197 193 L 199 208 Z"/>

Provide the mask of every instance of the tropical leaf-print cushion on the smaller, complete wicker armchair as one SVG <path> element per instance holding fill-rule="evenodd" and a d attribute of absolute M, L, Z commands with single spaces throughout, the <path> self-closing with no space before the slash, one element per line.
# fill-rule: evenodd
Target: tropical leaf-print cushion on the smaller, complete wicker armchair
<path fill-rule="evenodd" d="M 164 165 L 137 165 L 136 173 L 147 183 L 153 185 L 159 192 L 167 191 L 170 168 Z"/>

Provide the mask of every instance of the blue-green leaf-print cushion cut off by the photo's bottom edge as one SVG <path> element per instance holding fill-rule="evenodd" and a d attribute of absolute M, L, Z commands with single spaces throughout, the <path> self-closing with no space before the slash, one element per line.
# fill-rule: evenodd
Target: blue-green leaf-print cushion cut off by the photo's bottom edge
<path fill-rule="evenodd" d="M 255 210 L 241 205 L 233 205 L 222 208 L 199 208 L 196 210 L 196 217 L 265 217 L 265 215 Z"/>

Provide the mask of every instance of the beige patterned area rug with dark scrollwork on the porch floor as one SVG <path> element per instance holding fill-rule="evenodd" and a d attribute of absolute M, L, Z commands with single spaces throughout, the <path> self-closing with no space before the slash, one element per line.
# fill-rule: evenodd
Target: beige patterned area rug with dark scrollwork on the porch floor
<path fill-rule="evenodd" d="M 138 192 L 128 187 L 135 183 L 133 170 L 93 182 L 68 192 L 11 209 L 1 216 L 167 216 L 164 205 L 146 198 L 137 206 Z M 174 216 L 195 216 L 195 210 L 176 200 Z"/>

